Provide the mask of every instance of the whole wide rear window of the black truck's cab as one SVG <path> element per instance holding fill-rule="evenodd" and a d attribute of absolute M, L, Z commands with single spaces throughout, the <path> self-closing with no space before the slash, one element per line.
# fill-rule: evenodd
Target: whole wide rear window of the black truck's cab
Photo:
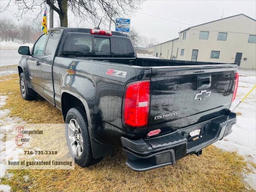
<path fill-rule="evenodd" d="M 62 44 L 61 55 L 134 57 L 135 53 L 129 38 L 69 33 Z"/>

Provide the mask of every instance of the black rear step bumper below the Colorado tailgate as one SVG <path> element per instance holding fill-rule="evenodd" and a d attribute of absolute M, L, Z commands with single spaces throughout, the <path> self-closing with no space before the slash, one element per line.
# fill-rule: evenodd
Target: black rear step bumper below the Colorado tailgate
<path fill-rule="evenodd" d="M 123 152 L 128 158 L 126 165 L 134 171 L 146 171 L 175 162 L 189 154 L 202 154 L 206 146 L 222 140 L 232 132 L 236 123 L 236 114 L 229 112 L 226 115 L 201 122 L 193 126 L 181 128 L 170 134 L 148 139 L 130 140 L 121 137 Z M 200 129 L 200 134 L 189 137 L 189 133 Z"/>

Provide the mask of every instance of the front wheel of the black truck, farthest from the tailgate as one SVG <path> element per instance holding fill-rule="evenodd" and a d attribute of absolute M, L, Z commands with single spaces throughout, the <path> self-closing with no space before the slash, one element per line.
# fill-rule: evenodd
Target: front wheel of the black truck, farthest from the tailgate
<path fill-rule="evenodd" d="M 30 94 L 28 94 L 28 92 Z M 20 94 L 24 100 L 35 100 L 37 97 L 37 93 L 34 90 L 28 88 L 24 73 L 20 74 Z"/>

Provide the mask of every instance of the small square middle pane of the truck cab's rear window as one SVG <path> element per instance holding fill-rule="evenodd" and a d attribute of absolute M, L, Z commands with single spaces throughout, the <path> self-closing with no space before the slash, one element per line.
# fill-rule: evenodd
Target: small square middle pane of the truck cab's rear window
<path fill-rule="evenodd" d="M 109 38 L 94 38 L 96 54 L 110 54 L 110 39 Z"/>

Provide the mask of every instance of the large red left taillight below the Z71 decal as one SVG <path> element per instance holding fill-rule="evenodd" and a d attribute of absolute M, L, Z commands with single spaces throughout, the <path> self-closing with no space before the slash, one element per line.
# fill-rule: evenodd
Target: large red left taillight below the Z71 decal
<path fill-rule="evenodd" d="M 123 100 L 123 123 L 133 128 L 148 125 L 150 81 L 137 81 L 126 85 Z"/>

